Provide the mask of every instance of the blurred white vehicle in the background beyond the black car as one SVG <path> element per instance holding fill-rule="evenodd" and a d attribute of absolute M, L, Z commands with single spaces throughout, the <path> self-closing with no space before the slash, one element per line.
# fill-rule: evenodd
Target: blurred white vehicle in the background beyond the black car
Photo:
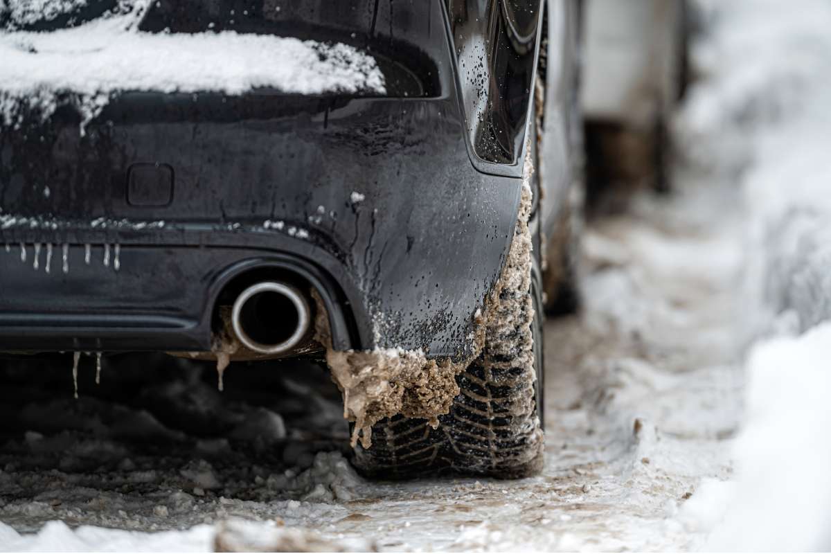
<path fill-rule="evenodd" d="M 668 189 L 666 125 L 686 82 L 684 0 L 584 0 L 589 203 L 615 209 L 643 185 Z M 602 189 L 602 199 L 597 199 Z"/>

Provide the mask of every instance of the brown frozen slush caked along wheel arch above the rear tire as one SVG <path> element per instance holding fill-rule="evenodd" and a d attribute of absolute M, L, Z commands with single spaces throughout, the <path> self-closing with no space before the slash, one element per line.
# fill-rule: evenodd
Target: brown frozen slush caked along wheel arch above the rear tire
<path fill-rule="evenodd" d="M 353 447 L 360 440 L 361 446 L 369 449 L 372 445 L 372 425 L 396 414 L 427 419 L 433 429 L 437 428 L 439 416 L 450 413 L 455 397 L 460 394 L 457 375 L 474 360 L 488 368 L 491 365 L 519 365 L 525 368 L 532 382 L 529 402 L 534 402 L 531 334 L 534 306 L 529 295 L 532 240 L 528 227 L 533 196 L 530 178 L 533 172 L 534 164 L 530 155 L 526 155 L 514 239 L 499 281 L 485 299 L 484 310 L 475 314 L 473 355 L 465 360 L 428 360 L 423 351 L 402 349 L 336 351 L 332 348 L 327 312 L 315 295 L 317 341 L 326 348 L 332 379 L 342 392 L 343 415 L 355 422 Z M 529 409 L 533 411 L 533 407 Z"/>

